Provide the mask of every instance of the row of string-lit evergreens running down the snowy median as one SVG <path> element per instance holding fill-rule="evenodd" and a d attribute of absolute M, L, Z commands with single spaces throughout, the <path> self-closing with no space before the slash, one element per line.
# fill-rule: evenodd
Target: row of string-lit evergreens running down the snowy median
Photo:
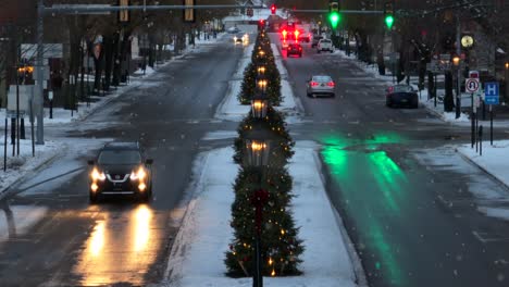
<path fill-rule="evenodd" d="M 239 98 L 249 96 L 245 98 L 246 103 L 257 92 L 257 67 L 260 65 L 266 68 L 270 104 L 263 117 L 258 118 L 249 113 L 237 129 L 234 161 L 240 164 L 240 169 L 234 184 L 235 201 L 232 204 L 231 226 L 234 229 L 234 239 L 226 252 L 225 264 L 231 276 L 252 276 L 256 242 L 259 238 L 264 276 L 298 275 L 303 246 L 297 236 L 298 227 L 289 210 L 293 180 L 286 169 L 294 154 L 295 142 L 286 128 L 284 116 L 271 107 L 278 104 L 282 99 L 280 73 L 269 39 L 262 33 L 254 45 L 252 63 L 245 72 L 243 97 Z M 271 86 L 271 82 L 276 84 Z M 270 138 L 266 165 L 261 169 L 247 164 L 247 137 L 253 132 L 262 132 Z"/>

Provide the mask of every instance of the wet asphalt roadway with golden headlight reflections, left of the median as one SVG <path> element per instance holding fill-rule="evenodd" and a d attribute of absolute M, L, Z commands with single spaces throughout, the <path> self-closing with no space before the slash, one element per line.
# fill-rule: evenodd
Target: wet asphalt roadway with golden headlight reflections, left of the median
<path fill-rule="evenodd" d="M 200 138 L 220 126 L 235 129 L 213 115 L 241 54 L 243 48 L 227 40 L 206 45 L 62 135 L 71 137 L 65 140 L 73 152 L 82 146 L 92 151 L 79 153 L 77 161 L 63 154 L 42 175 L 49 177 L 58 166 L 85 167 L 104 140 L 139 140 L 154 159 L 154 198 L 148 204 L 123 198 L 89 205 L 83 169 L 8 198 L 1 211 L 9 235 L 0 237 L 0 286 L 161 282 L 189 195 L 193 162 L 214 145 L 200 145 Z M 53 129 L 47 129 L 48 139 L 58 136 Z M 41 220 L 26 229 L 33 219 Z"/>

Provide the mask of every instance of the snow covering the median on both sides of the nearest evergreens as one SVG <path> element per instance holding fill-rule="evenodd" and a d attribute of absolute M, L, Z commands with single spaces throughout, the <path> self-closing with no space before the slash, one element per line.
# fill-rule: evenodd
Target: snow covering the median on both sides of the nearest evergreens
<path fill-rule="evenodd" d="M 353 266 L 319 172 L 316 146 L 298 141 L 289 164 L 294 177 L 293 212 L 305 252 L 303 274 L 265 277 L 265 286 L 357 286 Z M 195 163 L 197 189 L 170 254 L 166 286 L 251 286 L 251 278 L 225 276 L 225 252 L 233 238 L 229 226 L 233 183 L 238 165 L 233 149 L 208 152 Z"/>

